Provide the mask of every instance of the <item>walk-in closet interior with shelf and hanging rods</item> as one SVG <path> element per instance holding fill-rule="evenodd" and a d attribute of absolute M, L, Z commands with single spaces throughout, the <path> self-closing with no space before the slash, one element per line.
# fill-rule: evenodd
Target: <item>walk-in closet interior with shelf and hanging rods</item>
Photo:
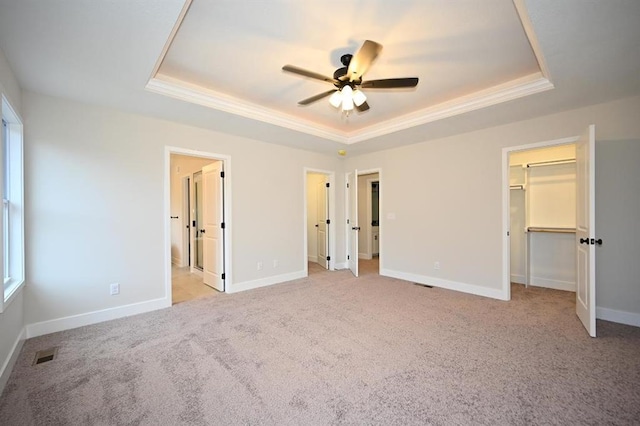
<path fill-rule="evenodd" d="M 575 291 L 575 145 L 509 158 L 511 282 Z"/>

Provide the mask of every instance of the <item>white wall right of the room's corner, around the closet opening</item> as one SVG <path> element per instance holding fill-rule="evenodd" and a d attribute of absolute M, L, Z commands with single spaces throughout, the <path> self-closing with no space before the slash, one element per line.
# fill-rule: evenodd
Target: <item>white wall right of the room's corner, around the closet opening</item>
<path fill-rule="evenodd" d="M 640 143 L 638 117 L 640 97 L 633 97 L 349 158 L 347 170 L 384 170 L 381 273 L 502 297 L 502 148 L 576 136 L 592 123 L 600 144 Z M 422 183 L 418 190 L 415 182 Z M 620 256 L 637 262 L 637 252 Z M 611 263 L 598 267 L 604 276 L 619 273 Z M 601 285 L 607 308 L 640 314 L 640 305 L 623 300 L 624 291 L 606 280 Z"/>

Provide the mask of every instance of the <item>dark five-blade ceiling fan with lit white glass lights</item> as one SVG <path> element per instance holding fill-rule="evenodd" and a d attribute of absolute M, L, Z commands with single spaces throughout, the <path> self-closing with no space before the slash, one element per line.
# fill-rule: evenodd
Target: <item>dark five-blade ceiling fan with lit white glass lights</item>
<path fill-rule="evenodd" d="M 327 77 L 313 71 L 296 67 L 294 65 L 285 65 L 283 71 L 302 75 L 305 77 L 315 78 L 317 80 L 326 81 L 335 86 L 335 88 L 326 92 L 317 94 L 298 102 L 298 105 L 309 105 L 324 97 L 331 95 L 329 103 L 335 108 L 342 106 L 342 111 L 347 114 L 354 107 L 362 112 L 369 109 L 367 97 L 360 89 L 395 89 L 402 87 L 416 87 L 418 85 L 418 77 L 409 78 L 386 78 L 382 80 L 362 81 L 362 76 L 367 72 L 371 63 L 382 50 L 382 45 L 375 41 L 365 40 L 360 50 L 355 55 L 342 55 L 340 62 L 344 65 L 338 68 L 333 77 Z"/>

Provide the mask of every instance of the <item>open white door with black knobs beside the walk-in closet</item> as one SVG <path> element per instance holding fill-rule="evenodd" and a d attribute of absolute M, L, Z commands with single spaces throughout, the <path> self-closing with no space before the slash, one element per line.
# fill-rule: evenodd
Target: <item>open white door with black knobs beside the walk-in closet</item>
<path fill-rule="evenodd" d="M 596 337 L 595 126 L 576 143 L 576 313 Z"/>

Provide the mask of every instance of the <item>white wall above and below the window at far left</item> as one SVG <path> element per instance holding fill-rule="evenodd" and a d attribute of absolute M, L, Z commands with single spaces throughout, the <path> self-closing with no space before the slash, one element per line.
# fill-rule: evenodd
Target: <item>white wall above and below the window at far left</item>
<path fill-rule="evenodd" d="M 2 50 L 0 50 L 0 95 L 9 101 L 18 115 L 22 116 L 21 90 Z M 24 325 L 24 290 L 19 290 L 11 303 L 0 313 L 0 394 L 22 347 Z"/>

